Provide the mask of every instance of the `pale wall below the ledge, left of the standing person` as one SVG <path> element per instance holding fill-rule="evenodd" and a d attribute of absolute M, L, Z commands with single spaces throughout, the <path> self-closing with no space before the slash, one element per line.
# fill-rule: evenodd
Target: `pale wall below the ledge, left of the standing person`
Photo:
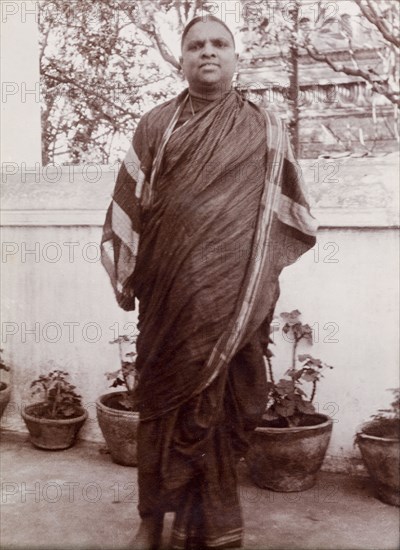
<path fill-rule="evenodd" d="M 104 373 L 119 368 L 118 348 L 109 341 L 135 319 L 115 303 L 98 257 L 100 236 L 99 227 L 3 229 L 2 347 L 13 367 L 6 428 L 25 429 L 19 410 L 29 401 L 30 382 L 54 361 L 69 371 L 90 414 L 82 437 L 100 437 L 94 402 L 108 391 Z"/>

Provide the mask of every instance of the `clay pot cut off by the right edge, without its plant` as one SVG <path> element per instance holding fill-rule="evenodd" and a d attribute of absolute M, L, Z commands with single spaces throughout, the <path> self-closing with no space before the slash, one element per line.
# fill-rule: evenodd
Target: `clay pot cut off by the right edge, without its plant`
<path fill-rule="evenodd" d="M 378 498 L 387 504 L 400 506 L 399 439 L 360 432 L 357 445 Z"/>

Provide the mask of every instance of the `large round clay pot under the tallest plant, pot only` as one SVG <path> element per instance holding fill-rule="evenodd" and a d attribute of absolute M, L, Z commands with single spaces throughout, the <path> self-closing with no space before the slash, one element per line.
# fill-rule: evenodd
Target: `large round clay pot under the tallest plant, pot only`
<path fill-rule="evenodd" d="M 271 427 L 264 421 L 252 435 L 246 455 L 253 481 L 259 487 L 304 491 L 315 485 L 332 433 L 332 420 L 323 414 L 307 415 L 307 426 Z"/>

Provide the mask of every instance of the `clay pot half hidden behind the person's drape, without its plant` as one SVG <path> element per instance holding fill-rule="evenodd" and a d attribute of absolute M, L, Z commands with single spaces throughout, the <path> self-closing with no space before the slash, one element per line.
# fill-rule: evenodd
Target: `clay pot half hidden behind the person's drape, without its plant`
<path fill-rule="evenodd" d="M 139 413 L 118 409 L 118 397 L 126 392 L 111 392 L 96 401 L 97 420 L 111 458 L 122 466 L 137 466 L 137 429 Z"/>

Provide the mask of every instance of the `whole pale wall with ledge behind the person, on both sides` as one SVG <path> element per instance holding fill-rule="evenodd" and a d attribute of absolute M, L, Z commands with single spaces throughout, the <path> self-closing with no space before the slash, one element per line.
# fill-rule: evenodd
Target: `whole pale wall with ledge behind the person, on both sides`
<path fill-rule="evenodd" d="M 312 173 L 308 165 L 303 170 L 307 177 Z M 388 168 L 385 181 L 387 173 Z M 29 400 L 30 382 L 54 362 L 70 372 L 89 411 L 81 437 L 102 441 L 95 400 L 108 391 L 104 374 L 119 366 L 118 349 L 109 341 L 136 324 L 135 312 L 117 307 L 99 258 L 113 177 L 103 171 L 96 182 L 92 174 L 71 183 L 64 174 L 54 186 L 41 174 L 39 183 L 17 185 L 14 179 L 13 185 L 9 178 L 4 186 L 1 347 L 12 365 L 5 429 L 25 431 L 20 410 Z M 311 180 L 310 186 L 315 195 Z M 354 433 L 390 402 L 386 389 L 399 385 L 393 206 L 389 201 L 386 209 L 316 208 L 322 224 L 316 247 L 281 276 L 276 313 L 299 309 L 314 329 L 312 355 L 334 366 L 316 399 L 335 422 L 325 462 L 332 470 L 358 467 Z M 275 340 L 279 374 L 288 368 L 290 344 L 278 333 Z"/>

